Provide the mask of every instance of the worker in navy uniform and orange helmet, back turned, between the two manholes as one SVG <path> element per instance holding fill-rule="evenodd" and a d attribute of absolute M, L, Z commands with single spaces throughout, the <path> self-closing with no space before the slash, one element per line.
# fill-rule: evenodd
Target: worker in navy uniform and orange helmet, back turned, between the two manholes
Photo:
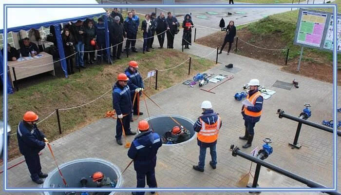
<path fill-rule="evenodd" d="M 157 133 L 149 130 L 149 124 L 145 120 L 138 122 L 138 134 L 129 148 L 128 156 L 134 161 L 134 169 L 137 177 L 137 188 L 156 188 L 155 167 L 156 154 L 162 146 L 162 141 Z M 155 192 L 151 192 L 154 194 Z M 132 192 L 133 195 L 144 195 L 145 192 Z"/>

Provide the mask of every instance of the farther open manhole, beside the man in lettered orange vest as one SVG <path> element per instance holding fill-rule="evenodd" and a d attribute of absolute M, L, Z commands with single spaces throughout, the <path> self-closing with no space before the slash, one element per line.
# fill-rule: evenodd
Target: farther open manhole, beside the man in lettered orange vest
<path fill-rule="evenodd" d="M 190 138 L 187 141 L 176 143 L 176 136 L 170 135 L 169 132 L 174 126 L 179 126 L 174 120 L 176 120 L 179 124 L 185 127 L 187 131 L 190 133 Z M 154 117 L 150 117 L 146 119 L 149 123 L 151 129 L 154 130 L 155 133 L 159 134 L 163 138 L 164 145 L 179 145 L 183 143 L 187 143 L 194 139 L 195 131 L 193 129 L 194 122 L 189 118 L 177 116 L 177 115 L 157 115 Z M 167 134 L 167 135 L 166 135 Z M 172 137 L 174 139 L 173 143 L 168 142 L 167 138 Z M 168 142 L 168 143 L 167 143 Z"/>

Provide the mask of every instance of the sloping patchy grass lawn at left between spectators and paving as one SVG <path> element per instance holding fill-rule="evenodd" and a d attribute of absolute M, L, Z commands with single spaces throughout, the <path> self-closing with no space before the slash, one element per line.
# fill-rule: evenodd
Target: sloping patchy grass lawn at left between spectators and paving
<path fill-rule="evenodd" d="M 40 119 L 50 115 L 55 109 L 70 108 L 90 102 L 109 91 L 105 96 L 99 98 L 86 106 L 59 111 L 61 120 L 62 135 L 59 135 L 57 115 L 54 114 L 45 121 L 38 124 L 38 127 L 45 133 L 49 140 L 54 140 L 76 131 L 100 118 L 103 118 L 107 111 L 113 110 L 112 86 L 116 82 L 118 73 L 123 73 L 129 60 L 136 60 L 139 63 L 139 71 L 143 78 L 147 72 L 155 68 L 158 70 L 174 67 L 189 58 L 189 55 L 175 50 L 155 49 L 145 55 L 137 53 L 129 59 L 116 61 L 114 65 L 91 65 L 82 69 L 80 73 L 71 75 L 69 78 L 53 78 L 42 81 L 38 84 L 20 89 L 8 97 L 8 118 L 12 127 L 11 133 L 16 133 L 17 125 L 22 120 L 22 115 L 32 110 Z M 149 80 L 145 81 L 146 93 L 153 95 L 183 80 L 192 78 L 198 72 L 203 72 L 215 65 L 215 62 L 206 59 L 192 59 L 191 73 L 188 75 L 188 65 L 185 64 L 169 71 L 159 72 L 158 89 L 155 90 L 155 78 L 152 79 L 151 89 Z M 2 106 L 2 101 L 0 103 Z M 144 106 L 144 103 L 141 104 Z M 2 115 L 2 111 L 0 113 Z M 114 132 L 114 127 L 113 127 Z M 114 135 L 113 139 L 114 139 Z M 9 147 L 9 158 L 19 156 L 17 136 L 11 137 Z"/>

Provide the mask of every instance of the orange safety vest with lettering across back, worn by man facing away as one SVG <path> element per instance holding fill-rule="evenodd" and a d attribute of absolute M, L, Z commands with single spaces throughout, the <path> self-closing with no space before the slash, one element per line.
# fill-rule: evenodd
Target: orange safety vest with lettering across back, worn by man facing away
<path fill-rule="evenodd" d="M 204 143 L 212 143 L 218 139 L 220 121 L 221 118 L 218 116 L 218 120 L 214 124 L 206 124 L 200 117 L 201 130 L 197 134 L 198 139 Z"/>

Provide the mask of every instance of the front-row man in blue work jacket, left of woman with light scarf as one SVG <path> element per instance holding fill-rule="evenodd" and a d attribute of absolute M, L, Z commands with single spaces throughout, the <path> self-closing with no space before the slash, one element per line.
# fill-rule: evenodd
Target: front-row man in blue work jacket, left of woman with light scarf
<path fill-rule="evenodd" d="M 127 33 L 127 41 L 126 41 L 126 51 L 129 51 L 130 44 L 132 44 L 132 51 L 137 52 L 135 45 L 133 44 L 133 39 L 136 39 L 136 31 L 137 23 L 133 20 L 133 13 L 128 13 L 128 18 L 124 20 L 124 29 Z"/>

